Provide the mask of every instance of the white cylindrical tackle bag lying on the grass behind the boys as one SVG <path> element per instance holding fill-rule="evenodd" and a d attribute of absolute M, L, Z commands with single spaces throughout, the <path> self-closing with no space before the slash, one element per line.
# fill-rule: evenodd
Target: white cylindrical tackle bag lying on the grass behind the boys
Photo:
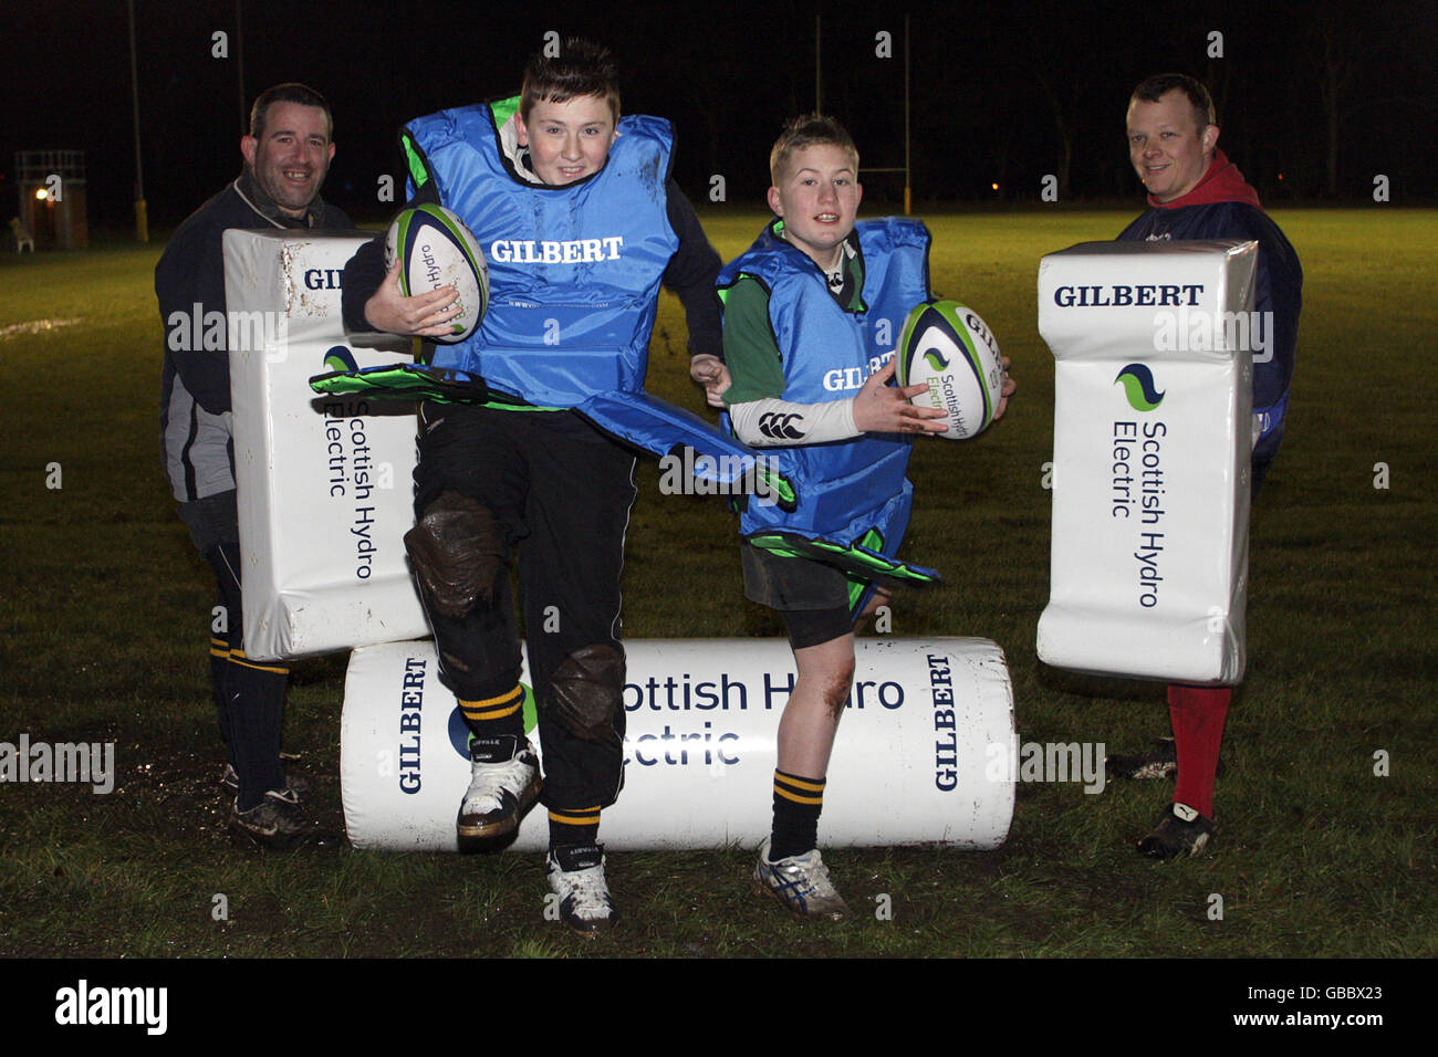
<path fill-rule="evenodd" d="M 624 792 L 611 851 L 758 847 L 769 833 L 778 725 L 795 683 L 784 639 L 628 639 Z M 434 643 L 355 650 L 339 723 L 345 833 L 358 848 L 454 851 L 469 728 Z M 536 736 L 528 663 L 525 729 Z M 825 847 L 989 850 L 1008 837 L 1020 759 L 1004 651 L 985 639 L 854 641 L 854 683 L 824 792 Z M 1100 779 L 1102 785 L 1102 779 Z M 513 843 L 542 851 L 545 813 Z"/>

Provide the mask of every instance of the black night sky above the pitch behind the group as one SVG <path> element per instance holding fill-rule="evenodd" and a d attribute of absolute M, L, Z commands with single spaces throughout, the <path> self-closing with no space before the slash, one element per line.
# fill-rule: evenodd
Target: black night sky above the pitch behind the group
<path fill-rule="evenodd" d="M 234 0 L 134 0 L 141 148 L 151 223 L 177 223 L 239 170 Z M 124 0 L 12 3 L 0 16 L 3 209 L 17 150 L 86 151 L 92 226 L 125 227 L 134 145 Z M 702 201 L 722 174 L 731 204 L 759 209 L 768 147 L 814 105 L 814 13 L 823 22 L 824 105 L 854 132 L 864 165 L 903 161 L 903 13 L 912 12 L 915 196 L 1037 200 L 1071 145 L 1067 200 L 1137 200 L 1122 139 L 1132 86 L 1149 73 L 1205 79 L 1221 147 L 1265 201 L 1324 191 L 1324 69 L 1339 75 L 1339 197 L 1386 174 L 1395 203 L 1438 186 L 1432 69 L 1438 3 L 1347 4 L 1316 22 L 1309 3 L 1037 4 L 495 4 L 242 0 L 249 99 L 279 81 L 329 96 L 338 152 L 325 196 L 378 220 L 377 177 L 398 175 L 395 132 L 443 106 L 512 93 L 548 30 L 610 45 L 624 109 L 667 116 L 676 175 Z M 503 7 L 503 10 L 502 10 Z M 1263 7 L 1255 12 L 1252 9 Z M 229 58 L 211 35 L 229 35 Z M 893 58 L 874 55 L 893 35 Z M 1206 55 L 1222 33 L 1224 58 Z M 1332 42 L 1324 66 L 1324 42 Z M 249 102 L 246 101 L 246 105 Z M 1283 173 L 1283 181 L 1278 174 Z M 1002 191 L 988 190 L 998 180 Z M 866 178 L 870 200 L 883 178 Z"/>

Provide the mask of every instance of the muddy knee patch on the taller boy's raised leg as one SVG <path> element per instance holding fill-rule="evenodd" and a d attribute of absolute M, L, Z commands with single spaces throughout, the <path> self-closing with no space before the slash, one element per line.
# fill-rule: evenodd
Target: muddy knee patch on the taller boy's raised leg
<path fill-rule="evenodd" d="M 444 492 L 404 534 L 414 575 L 441 617 L 460 620 L 476 604 L 489 605 L 505 559 L 505 539 L 487 506 Z"/>

